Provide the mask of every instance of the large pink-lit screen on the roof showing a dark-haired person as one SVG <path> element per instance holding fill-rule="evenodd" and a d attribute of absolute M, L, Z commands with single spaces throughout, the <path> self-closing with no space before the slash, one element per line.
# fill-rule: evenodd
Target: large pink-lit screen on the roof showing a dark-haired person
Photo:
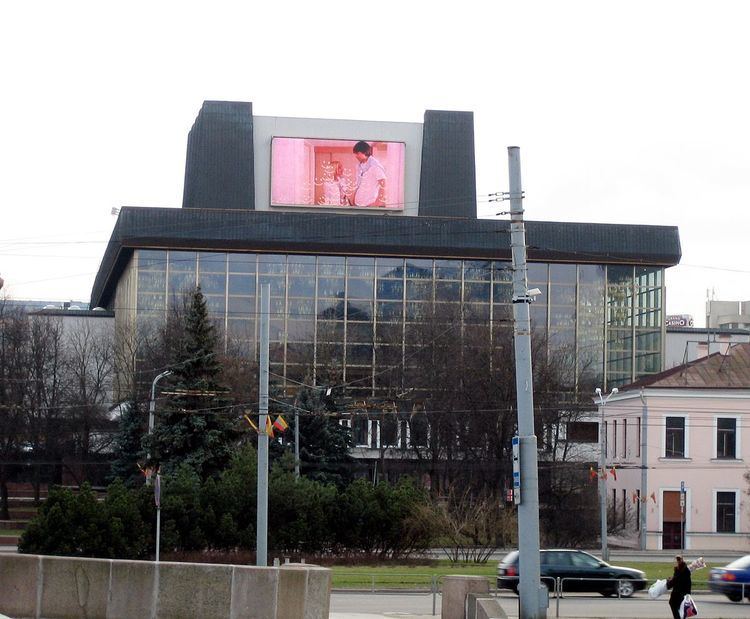
<path fill-rule="evenodd" d="M 402 142 L 273 138 L 271 205 L 403 210 Z"/>

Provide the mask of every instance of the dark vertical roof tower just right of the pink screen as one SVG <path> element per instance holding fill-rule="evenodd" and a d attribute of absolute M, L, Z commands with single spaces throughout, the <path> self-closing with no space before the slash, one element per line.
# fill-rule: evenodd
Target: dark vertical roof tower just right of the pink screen
<path fill-rule="evenodd" d="M 476 219 L 473 112 L 425 112 L 419 214 Z"/>

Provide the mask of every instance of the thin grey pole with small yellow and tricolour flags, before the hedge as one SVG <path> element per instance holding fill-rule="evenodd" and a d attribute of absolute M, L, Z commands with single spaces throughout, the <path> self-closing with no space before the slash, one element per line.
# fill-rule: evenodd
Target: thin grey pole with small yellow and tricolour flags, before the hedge
<path fill-rule="evenodd" d="M 255 530 L 255 565 L 268 565 L 268 340 L 271 285 L 260 287 L 260 385 L 258 404 L 258 505 Z"/>

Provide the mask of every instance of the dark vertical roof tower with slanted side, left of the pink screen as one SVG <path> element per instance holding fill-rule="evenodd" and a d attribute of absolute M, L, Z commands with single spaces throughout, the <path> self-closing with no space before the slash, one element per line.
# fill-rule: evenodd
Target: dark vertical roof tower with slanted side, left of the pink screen
<path fill-rule="evenodd" d="M 255 209 L 252 103 L 203 102 L 188 135 L 182 207 Z"/>

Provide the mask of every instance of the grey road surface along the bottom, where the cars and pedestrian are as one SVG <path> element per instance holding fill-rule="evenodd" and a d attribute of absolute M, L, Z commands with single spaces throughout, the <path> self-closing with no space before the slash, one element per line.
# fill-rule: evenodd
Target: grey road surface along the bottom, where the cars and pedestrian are
<path fill-rule="evenodd" d="M 733 604 L 723 596 L 711 593 L 698 593 L 694 596 L 700 619 L 735 619 L 750 617 L 750 604 Z M 518 598 L 501 595 L 498 600 L 509 617 L 518 617 Z M 560 600 L 557 614 L 555 599 L 550 599 L 547 617 L 557 616 L 566 619 L 593 619 L 595 617 L 622 619 L 650 619 L 669 617 L 667 597 L 651 600 L 646 594 L 636 594 L 627 600 L 616 598 L 570 595 Z M 440 614 L 440 596 L 437 596 L 436 611 Z M 432 615 L 430 594 L 401 593 L 334 593 L 331 596 L 331 619 L 427 619 Z"/>

